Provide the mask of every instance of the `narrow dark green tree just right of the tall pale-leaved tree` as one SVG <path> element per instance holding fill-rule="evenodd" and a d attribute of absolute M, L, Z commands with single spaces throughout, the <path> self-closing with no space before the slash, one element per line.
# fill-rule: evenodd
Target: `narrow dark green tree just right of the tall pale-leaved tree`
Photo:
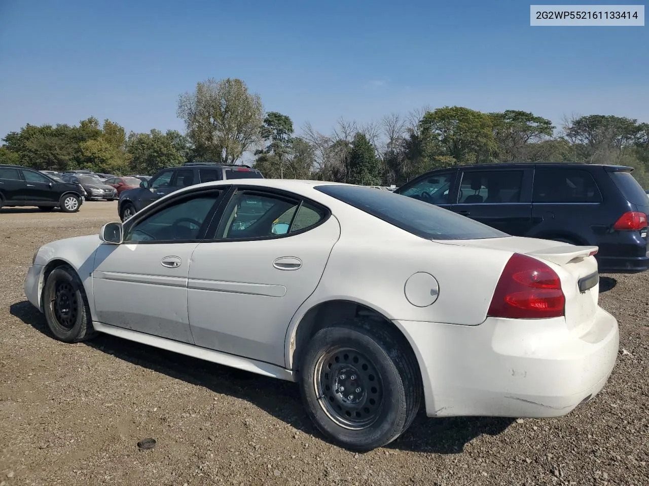
<path fill-rule="evenodd" d="M 263 174 L 269 177 L 284 179 L 284 169 L 292 152 L 293 122 L 287 115 L 271 111 L 263 119 L 261 135 L 267 145 L 255 152 L 258 156 L 255 166 L 263 167 Z"/>

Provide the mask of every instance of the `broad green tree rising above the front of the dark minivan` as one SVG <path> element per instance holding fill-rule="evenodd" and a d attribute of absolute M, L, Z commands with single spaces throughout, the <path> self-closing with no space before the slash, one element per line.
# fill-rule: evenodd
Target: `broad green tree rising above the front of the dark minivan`
<path fill-rule="evenodd" d="M 489 162 L 498 145 L 492 118 L 462 106 L 428 111 L 419 122 L 424 157 L 453 157 L 458 163 Z"/>

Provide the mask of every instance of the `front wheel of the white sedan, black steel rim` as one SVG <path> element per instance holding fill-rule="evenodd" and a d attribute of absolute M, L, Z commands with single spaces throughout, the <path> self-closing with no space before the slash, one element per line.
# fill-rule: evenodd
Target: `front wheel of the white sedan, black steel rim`
<path fill-rule="evenodd" d="M 83 284 L 69 267 L 55 268 L 47 276 L 43 310 L 47 327 L 60 341 L 77 343 L 95 334 Z"/>

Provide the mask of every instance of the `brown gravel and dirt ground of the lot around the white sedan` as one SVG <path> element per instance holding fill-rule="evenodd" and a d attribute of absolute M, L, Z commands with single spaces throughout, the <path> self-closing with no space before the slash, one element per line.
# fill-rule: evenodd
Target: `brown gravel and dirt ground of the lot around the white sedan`
<path fill-rule="evenodd" d="M 592 402 L 542 421 L 420 417 L 358 455 L 321 439 L 295 384 L 109 336 L 53 340 L 23 295 L 32 255 L 110 220 L 114 202 L 0 211 L 0 486 L 649 485 L 649 273 L 602 280 L 621 342 Z"/>

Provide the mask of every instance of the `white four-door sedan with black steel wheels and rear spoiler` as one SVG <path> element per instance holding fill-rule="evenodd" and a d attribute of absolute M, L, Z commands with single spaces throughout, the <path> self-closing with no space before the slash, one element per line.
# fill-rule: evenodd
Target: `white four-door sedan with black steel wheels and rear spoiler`
<path fill-rule="evenodd" d="M 597 248 L 510 237 L 368 187 L 242 179 L 173 192 L 36 251 L 59 340 L 105 332 L 299 382 L 352 450 L 429 417 L 558 417 L 604 386 L 617 321 Z"/>

